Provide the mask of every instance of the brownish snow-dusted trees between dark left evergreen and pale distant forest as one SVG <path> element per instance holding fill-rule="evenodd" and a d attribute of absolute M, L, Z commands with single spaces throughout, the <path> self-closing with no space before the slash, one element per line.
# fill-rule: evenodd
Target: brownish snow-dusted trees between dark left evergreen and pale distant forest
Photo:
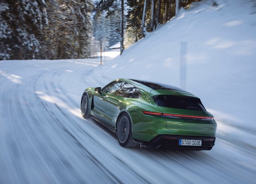
<path fill-rule="evenodd" d="M 90 56 L 91 10 L 89 0 L 50 0 L 48 52 L 50 59 Z"/>

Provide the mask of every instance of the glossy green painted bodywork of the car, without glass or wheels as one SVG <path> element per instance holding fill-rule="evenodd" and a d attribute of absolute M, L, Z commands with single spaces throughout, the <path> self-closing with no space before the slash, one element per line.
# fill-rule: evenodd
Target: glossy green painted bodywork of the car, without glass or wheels
<path fill-rule="evenodd" d="M 215 141 L 217 123 L 214 121 L 211 113 L 206 110 L 161 107 L 158 106 L 152 98 L 156 95 L 198 98 L 195 95 L 184 91 L 166 89 L 154 90 L 144 84 L 129 79 L 117 79 L 114 81 L 129 83 L 138 87 L 141 97 L 125 98 L 116 94 L 105 92 L 98 93 L 95 91 L 95 88 L 87 88 L 84 91 L 84 94 L 87 93 L 89 97 L 89 115 L 95 117 L 113 132 L 116 132 L 117 121 L 120 114 L 127 112 L 132 122 L 132 136 L 134 140 L 150 141 L 159 135 L 182 135 L 212 137 Z M 108 84 L 106 86 L 108 86 Z M 196 118 L 182 119 L 151 116 L 144 114 L 143 111 L 159 114 L 167 113 L 182 116 L 209 117 L 211 119 L 205 121 Z"/>

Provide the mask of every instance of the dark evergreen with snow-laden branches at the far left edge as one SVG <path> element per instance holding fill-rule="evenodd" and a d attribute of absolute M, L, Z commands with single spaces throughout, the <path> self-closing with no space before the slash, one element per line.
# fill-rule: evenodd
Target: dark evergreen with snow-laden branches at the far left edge
<path fill-rule="evenodd" d="M 45 1 L 2 0 L 0 7 L 0 59 L 35 58 L 48 24 Z"/>

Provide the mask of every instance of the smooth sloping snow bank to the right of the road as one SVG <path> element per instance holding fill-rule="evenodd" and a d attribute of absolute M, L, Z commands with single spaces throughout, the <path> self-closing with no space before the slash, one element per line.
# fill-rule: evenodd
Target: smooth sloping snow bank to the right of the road
<path fill-rule="evenodd" d="M 180 85 L 180 43 L 187 42 L 187 90 L 216 120 L 254 131 L 256 14 L 253 2 L 200 1 L 94 72 L 101 82 L 137 78 Z"/>

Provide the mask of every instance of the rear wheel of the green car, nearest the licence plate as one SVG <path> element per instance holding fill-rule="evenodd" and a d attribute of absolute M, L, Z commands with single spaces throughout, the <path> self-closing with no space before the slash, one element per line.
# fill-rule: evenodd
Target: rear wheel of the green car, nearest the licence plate
<path fill-rule="evenodd" d="M 119 144 L 123 147 L 136 148 L 139 146 L 139 143 L 134 142 L 132 139 L 132 124 L 127 113 L 123 113 L 118 118 L 116 135 Z"/>

